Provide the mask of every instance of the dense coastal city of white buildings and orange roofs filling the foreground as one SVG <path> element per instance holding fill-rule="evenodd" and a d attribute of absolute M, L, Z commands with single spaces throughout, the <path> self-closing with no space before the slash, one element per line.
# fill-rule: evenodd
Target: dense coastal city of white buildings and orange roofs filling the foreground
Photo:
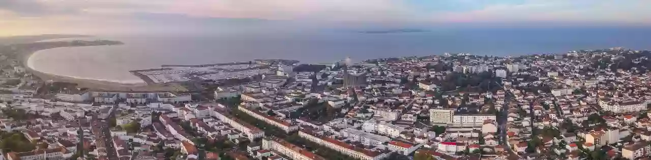
<path fill-rule="evenodd" d="M 8 160 L 649 159 L 649 56 L 253 60 L 135 71 L 187 88 L 139 91 L 44 81 L 3 55 L 0 148 Z"/>

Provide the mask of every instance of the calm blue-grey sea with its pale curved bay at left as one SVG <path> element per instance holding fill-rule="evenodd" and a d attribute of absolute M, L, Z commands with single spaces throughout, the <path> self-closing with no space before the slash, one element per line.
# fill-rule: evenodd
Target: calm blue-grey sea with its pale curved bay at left
<path fill-rule="evenodd" d="M 142 83 L 129 70 L 163 64 L 212 64 L 253 59 L 331 63 L 383 57 L 471 53 L 518 56 L 578 49 L 648 49 L 651 29 L 432 29 L 425 32 L 283 31 L 222 34 L 100 35 L 120 46 L 66 47 L 36 52 L 36 70 L 84 79 Z M 67 39 L 69 40 L 69 39 Z"/>

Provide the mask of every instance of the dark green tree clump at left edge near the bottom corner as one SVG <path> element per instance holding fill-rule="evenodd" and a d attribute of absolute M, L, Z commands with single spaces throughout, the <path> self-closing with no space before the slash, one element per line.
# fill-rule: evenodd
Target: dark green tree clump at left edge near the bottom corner
<path fill-rule="evenodd" d="M 35 149 L 35 144 L 29 142 L 20 132 L 0 131 L 0 140 L 0 148 L 13 152 L 28 152 Z"/>

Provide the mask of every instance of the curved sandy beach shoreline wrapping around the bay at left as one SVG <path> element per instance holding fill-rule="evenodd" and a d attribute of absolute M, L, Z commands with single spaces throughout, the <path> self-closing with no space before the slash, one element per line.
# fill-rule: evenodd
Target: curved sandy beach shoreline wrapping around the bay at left
<path fill-rule="evenodd" d="M 74 46 L 71 46 L 74 47 Z M 53 47 L 53 48 L 58 48 L 58 47 Z M 49 49 L 53 49 L 49 48 Z M 66 76 L 66 75 L 57 75 L 53 73 L 47 73 L 47 72 L 41 72 L 39 70 L 36 70 L 35 68 L 32 68 L 32 66 L 29 65 L 29 59 L 37 52 L 37 51 L 44 51 L 47 49 L 40 49 L 36 51 L 27 51 L 25 53 L 21 53 L 19 56 L 20 62 L 22 66 L 27 70 L 29 73 L 32 73 L 36 77 L 39 77 L 43 81 L 54 81 L 54 82 L 64 82 L 64 83 L 76 83 L 77 87 L 79 88 L 92 88 L 94 90 L 115 90 L 115 91 L 141 91 L 141 92 L 149 92 L 149 91 L 186 91 L 186 88 L 181 87 L 180 85 L 166 85 L 166 84 L 161 84 L 161 85 L 152 85 L 152 84 L 147 84 L 145 81 L 143 83 L 120 83 L 116 81 L 105 81 L 105 80 L 100 80 L 100 79 L 85 79 L 85 78 L 79 78 L 79 77 L 72 77 L 72 76 Z"/>

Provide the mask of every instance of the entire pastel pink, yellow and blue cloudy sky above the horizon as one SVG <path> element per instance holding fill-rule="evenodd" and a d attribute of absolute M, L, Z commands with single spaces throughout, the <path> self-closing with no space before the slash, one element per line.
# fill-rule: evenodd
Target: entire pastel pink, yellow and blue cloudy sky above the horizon
<path fill-rule="evenodd" d="M 0 0 L 0 36 L 651 25 L 648 0 Z"/>

